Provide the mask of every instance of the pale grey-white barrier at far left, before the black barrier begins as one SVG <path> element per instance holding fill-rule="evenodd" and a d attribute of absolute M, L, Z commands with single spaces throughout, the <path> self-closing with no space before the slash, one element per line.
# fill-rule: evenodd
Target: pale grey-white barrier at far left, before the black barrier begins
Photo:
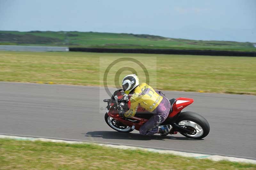
<path fill-rule="evenodd" d="M 69 51 L 69 48 L 28 45 L 0 45 L 0 51 Z"/>

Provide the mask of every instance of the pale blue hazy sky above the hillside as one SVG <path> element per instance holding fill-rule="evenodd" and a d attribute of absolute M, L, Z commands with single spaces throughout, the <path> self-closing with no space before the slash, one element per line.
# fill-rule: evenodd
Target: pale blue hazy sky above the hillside
<path fill-rule="evenodd" d="M 256 0 L 0 0 L 0 30 L 256 43 Z"/>

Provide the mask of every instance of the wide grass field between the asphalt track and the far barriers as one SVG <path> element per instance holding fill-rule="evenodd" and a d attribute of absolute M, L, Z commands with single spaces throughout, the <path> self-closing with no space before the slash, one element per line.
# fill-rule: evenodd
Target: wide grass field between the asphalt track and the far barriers
<path fill-rule="evenodd" d="M 143 60 L 149 74 L 154 75 L 153 87 L 157 89 L 256 95 L 253 57 L 1 51 L 0 81 L 102 86 L 99 75 L 108 60 L 121 57 Z M 126 74 L 123 72 L 121 77 Z M 138 74 L 144 81 L 144 74 Z M 110 81 L 108 85 L 114 87 L 115 83 Z"/>

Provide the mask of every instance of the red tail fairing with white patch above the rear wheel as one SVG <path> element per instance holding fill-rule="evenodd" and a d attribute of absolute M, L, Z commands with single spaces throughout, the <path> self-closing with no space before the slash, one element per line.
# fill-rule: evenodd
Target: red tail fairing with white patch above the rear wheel
<path fill-rule="evenodd" d="M 189 104 L 192 104 L 194 102 L 193 99 L 191 98 L 185 98 L 185 97 L 180 97 L 176 99 L 176 102 L 173 104 L 172 108 L 173 111 L 169 113 L 170 118 L 174 117 L 176 114 L 178 114 L 182 109 L 187 107 Z"/>

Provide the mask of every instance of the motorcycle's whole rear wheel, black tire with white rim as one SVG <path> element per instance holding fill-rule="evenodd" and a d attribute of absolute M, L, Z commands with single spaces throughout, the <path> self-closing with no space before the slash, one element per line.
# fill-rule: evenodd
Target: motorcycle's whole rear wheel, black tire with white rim
<path fill-rule="evenodd" d="M 195 112 L 181 112 L 176 124 L 190 126 L 196 129 L 195 135 L 180 133 L 181 135 L 191 139 L 202 139 L 210 132 L 210 125 L 208 121 L 203 116 Z"/>

